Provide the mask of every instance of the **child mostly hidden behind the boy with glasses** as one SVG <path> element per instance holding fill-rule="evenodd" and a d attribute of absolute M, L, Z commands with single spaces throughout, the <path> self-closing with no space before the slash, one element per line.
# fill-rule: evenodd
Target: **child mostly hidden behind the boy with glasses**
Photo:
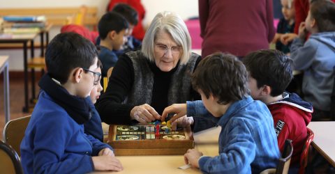
<path fill-rule="evenodd" d="M 101 74 L 101 61 L 99 59 L 98 59 L 98 68 L 96 69 L 96 73 Z M 100 76 L 99 81 L 100 80 L 101 80 L 101 76 Z M 92 117 L 91 117 L 91 120 L 84 123 L 84 132 L 85 134 L 94 136 L 94 138 L 103 142 L 103 127 L 101 125 L 101 118 L 100 118 L 98 111 L 96 111 L 96 107 L 94 106 L 94 104 L 96 103 L 96 100 L 98 100 L 98 98 L 100 97 L 101 90 L 103 90 L 103 86 L 101 86 L 100 83 L 96 83 L 94 84 L 91 90 L 91 93 L 89 94 L 89 96 L 91 97 L 91 101 L 92 101 L 91 104 L 89 105 L 91 109 Z"/>

